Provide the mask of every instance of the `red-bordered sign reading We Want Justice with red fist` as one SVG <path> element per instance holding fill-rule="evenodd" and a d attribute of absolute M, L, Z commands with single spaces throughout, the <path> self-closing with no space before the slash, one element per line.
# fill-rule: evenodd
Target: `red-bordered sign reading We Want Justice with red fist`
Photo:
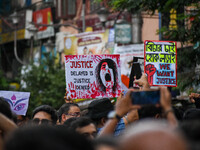
<path fill-rule="evenodd" d="M 177 86 L 177 43 L 144 42 L 144 72 L 151 86 Z"/>

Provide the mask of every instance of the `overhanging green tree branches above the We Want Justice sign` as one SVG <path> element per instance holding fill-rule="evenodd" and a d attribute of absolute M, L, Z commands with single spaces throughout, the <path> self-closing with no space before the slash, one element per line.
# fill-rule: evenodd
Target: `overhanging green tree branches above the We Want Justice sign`
<path fill-rule="evenodd" d="M 100 0 L 103 1 L 103 0 Z M 177 13 L 177 21 L 185 22 L 185 26 L 177 30 L 169 30 L 168 28 L 161 29 L 160 32 L 164 34 L 169 40 L 192 42 L 196 43 L 200 39 L 200 4 L 199 0 L 110 0 L 108 5 L 115 11 L 128 10 L 130 13 L 137 13 L 138 11 L 146 11 L 154 14 L 156 10 L 161 13 L 169 13 L 171 9 L 178 10 L 185 6 L 193 6 L 194 12 Z M 187 24 L 188 20 L 193 21 Z"/>

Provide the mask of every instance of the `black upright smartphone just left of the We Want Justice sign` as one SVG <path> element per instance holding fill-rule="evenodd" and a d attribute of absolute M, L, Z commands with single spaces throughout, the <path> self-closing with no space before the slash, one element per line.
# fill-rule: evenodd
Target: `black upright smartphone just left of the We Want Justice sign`
<path fill-rule="evenodd" d="M 136 85 L 133 84 L 133 81 L 135 80 L 134 77 L 136 77 L 136 79 L 140 79 L 140 77 L 142 76 L 142 71 L 140 68 L 140 63 L 139 62 L 133 62 L 132 68 L 131 68 L 131 74 L 129 77 L 129 88 L 130 87 L 137 87 Z"/>

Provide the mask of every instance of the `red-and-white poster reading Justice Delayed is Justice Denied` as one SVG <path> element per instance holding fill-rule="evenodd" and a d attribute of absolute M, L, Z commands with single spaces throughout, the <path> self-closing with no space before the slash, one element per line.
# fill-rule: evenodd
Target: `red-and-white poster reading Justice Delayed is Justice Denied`
<path fill-rule="evenodd" d="M 72 99 L 118 97 L 121 92 L 119 55 L 66 55 L 65 76 Z"/>

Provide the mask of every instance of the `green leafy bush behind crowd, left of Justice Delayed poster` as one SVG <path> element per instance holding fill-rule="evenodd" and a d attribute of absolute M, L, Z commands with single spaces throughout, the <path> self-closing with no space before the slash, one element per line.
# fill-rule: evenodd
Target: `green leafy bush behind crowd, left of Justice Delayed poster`
<path fill-rule="evenodd" d="M 31 92 L 28 115 L 39 105 L 47 104 L 58 109 L 64 103 L 65 72 L 59 65 L 54 64 L 54 58 L 44 60 L 40 66 L 32 64 L 26 67 L 21 79 L 26 83 L 22 91 Z"/>

